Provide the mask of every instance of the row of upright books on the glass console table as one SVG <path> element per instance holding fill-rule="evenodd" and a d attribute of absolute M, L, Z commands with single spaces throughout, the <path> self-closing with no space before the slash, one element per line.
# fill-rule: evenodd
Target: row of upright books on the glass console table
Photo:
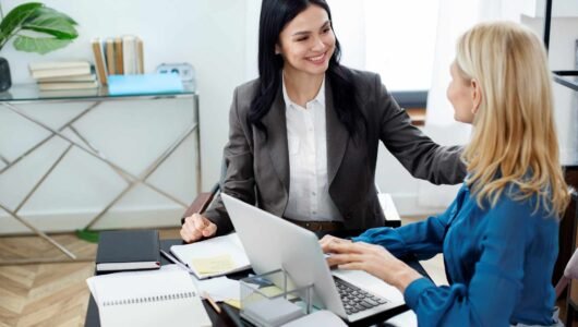
<path fill-rule="evenodd" d="M 109 75 L 144 74 L 143 40 L 134 35 L 107 37 L 92 41 L 96 71 L 100 84 L 108 84 Z"/>

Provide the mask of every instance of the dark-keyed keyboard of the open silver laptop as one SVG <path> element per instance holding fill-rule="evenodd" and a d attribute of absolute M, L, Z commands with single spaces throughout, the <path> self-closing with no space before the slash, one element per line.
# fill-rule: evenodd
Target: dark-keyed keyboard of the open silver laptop
<path fill-rule="evenodd" d="M 336 276 L 334 276 L 334 280 L 347 315 L 387 303 L 387 300 L 366 292 Z"/>

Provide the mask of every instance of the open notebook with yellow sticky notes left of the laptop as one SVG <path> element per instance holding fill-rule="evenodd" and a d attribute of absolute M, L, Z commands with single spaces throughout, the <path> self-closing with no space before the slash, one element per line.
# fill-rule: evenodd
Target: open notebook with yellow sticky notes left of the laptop
<path fill-rule="evenodd" d="M 198 279 L 227 275 L 251 268 L 237 233 L 184 245 L 172 245 L 170 252 Z"/>

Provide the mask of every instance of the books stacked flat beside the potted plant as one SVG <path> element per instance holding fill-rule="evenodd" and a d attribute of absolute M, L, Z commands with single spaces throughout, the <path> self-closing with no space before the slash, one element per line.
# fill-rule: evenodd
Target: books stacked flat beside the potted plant
<path fill-rule="evenodd" d="M 28 65 L 40 90 L 87 89 L 98 87 L 88 61 L 35 62 Z"/>

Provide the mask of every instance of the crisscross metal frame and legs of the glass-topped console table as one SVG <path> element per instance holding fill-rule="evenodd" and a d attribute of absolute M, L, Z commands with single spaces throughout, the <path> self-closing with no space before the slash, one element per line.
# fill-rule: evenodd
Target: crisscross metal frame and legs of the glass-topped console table
<path fill-rule="evenodd" d="M 127 171 L 125 169 L 119 167 L 111 160 L 107 158 L 107 156 L 96 148 L 91 142 L 82 135 L 82 133 L 74 128 L 74 123 L 79 120 L 81 120 L 86 113 L 95 110 L 99 107 L 103 101 L 123 101 L 123 100 L 143 100 L 143 99 L 167 99 L 167 98 L 192 98 L 193 99 L 193 121 L 189 124 L 189 126 L 185 129 L 183 133 L 179 135 L 179 137 L 169 146 L 167 147 L 146 169 L 144 172 L 142 172 L 139 175 L 134 175 Z M 79 114 L 67 121 L 62 126 L 60 126 L 58 130 L 55 130 L 47 124 L 43 123 L 41 121 L 35 119 L 34 117 L 25 113 L 24 110 L 20 109 L 16 104 L 23 105 L 23 104 L 37 104 L 37 102 L 93 102 L 86 109 L 82 110 Z M 14 160 L 9 160 L 4 156 L 0 154 L 0 160 L 3 161 L 7 166 L 0 169 L 0 174 L 9 170 L 10 168 L 14 167 L 19 161 L 21 161 L 23 158 L 38 149 L 40 146 L 46 144 L 49 140 L 51 140 L 55 136 L 58 136 L 65 142 L 68 142 L 68 146 L 60 154 L 60 156 L 52 162 L 50 168 L 40 177 L 40 179 L 35 183 L 35 185 L 32 187 L 32 190 L 24 196 L 24 198 L 20 202 L 20 204 L 16 206 L 15 209 L 10 209 L 5 205 L 2 205 L 0 202 L 0 209 L 3 209 L 7 211 L 10 216 L 12 216 L 14 219 L 23 223 L 26 228 L 28 228 L 31 231 L 33 231 L 38 237 L 43 238 L 44 240 L 48 241 L 51 245 L 60 250 L 62 253 L 64 253 L 70 259 L 75 261 L 76 255 L 69 251 L 67 247 L 64 247 L 62 244 L 58 243 L 55 239 L 49 237 L 47 233 L 43 232 L 38 228 L 36 228 L 33 223 L 24 219 L 19 215 L 19 211 L 22 209 L 22 207 L 26 204 L 26 202 L 32 197 L 32 195 L 38 190 L 38 187 L 43 184 L 43 182 L 50 175 L 50 173 L 55 170 L 55 168 L 62 161 L 62 159 L 67 156 L 67 154 L 70 152 L 72 147 L 76 147 L 88 155 L 91 155 L 95 160 L 100 160 L 108 165 L 110 169 L 112 169 L 118 175 L 120 175 L 125 182 L 127 186 L 117 194 L 117 196 L 110 201 L 94 218 L 91 219 L 91 221 L 84 227 L 85 229 L 92 228 L 116 203 L 118 203 L 130 190 L 132 190 L 137 184 L 143 184 L 147 186 L 148 189 L 155 191 L 156 193 L 169 198 L 170 201 L 179 204 L 183 208 L 188 207 L 188 204 L 181 202 L 180 199 L 176 198 L 174 196 L 168 194 L 167 192 L 156 187 L 155 185 L 147 182 L 148 177 L 150 177 L 157 168 L 165 162 L 165 160 L 170 157 L 170 155 L 189 137 L 189 135 L 194 133 L 195 137 L 195 150 L 196 150 L 196 164 L 195 164 L 195 172 L 196 172 L 196 193 L 198 194 L 201 192 L 201 140 L 200 140 L 200 126 L 198 126 L 198 96 L 195 93 L 183 93 L 183 94 L 170 94 L 170 95 L 136 95 L 136 96 L 122 96 L 122 97 L 109 97 L 109 96 L 94 96 L 94 97 L 71 97 L 71 98 L 58 98 L 58 99 L 50 99 L 50 98 L 39 98 L 39 99 L 26 99 L 26 100 L 19 100 L 19 99 L 0 99 L 0 106 L 3 108 L 19 114 L 20 117 L 33 122 L 37 126 L 50 132 L 50 135 L 45 137 L 44 140 L 39 141 L 37 144 L 35 144 L 33 147 L 27 149 L 24 154 L 22 154 L 20 157 L 17 157 Z M 63 131 L 69 129 L 75 136 L 77 136 L 82 143 L 79 143 L 67 135 L 63 134 Z M 62 259 L 34 259 L 34 258 L 25 258 L 25 259 L 17 259 L 17 261 L 1 261 L 0 265 L 7 265 L 7 264 L 32 264 L 32 263 L 46 263 L 46 262 L 62 262 Z"/>

